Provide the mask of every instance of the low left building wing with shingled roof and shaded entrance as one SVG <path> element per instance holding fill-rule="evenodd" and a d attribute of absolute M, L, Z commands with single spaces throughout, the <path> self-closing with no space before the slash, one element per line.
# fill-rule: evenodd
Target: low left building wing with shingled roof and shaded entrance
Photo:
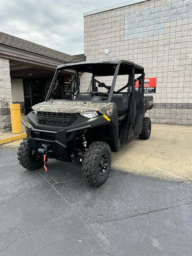
<path fill-rule="evenodd" d="M 57 66 L 84 60 L 84 54 L 65 54 L 0 32 L 0 132 L 11 130 L 10 103 L 24 102 L 28 114 L 45 100 Z M 74 77 L 72 70 L 60 74 L 52 98 L 63 97 Z"/>

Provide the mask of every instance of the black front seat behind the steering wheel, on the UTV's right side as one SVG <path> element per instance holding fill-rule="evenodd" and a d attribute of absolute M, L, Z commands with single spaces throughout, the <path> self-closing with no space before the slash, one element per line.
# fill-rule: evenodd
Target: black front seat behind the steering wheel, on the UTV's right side
<path fill-rule="evenodd" d="M 116 104 L 118 112 L 118 121 L 122 122 L 127 117 L 128 111 L 128 93 L 117 92 L 112 96 L 112 101 Z"/>

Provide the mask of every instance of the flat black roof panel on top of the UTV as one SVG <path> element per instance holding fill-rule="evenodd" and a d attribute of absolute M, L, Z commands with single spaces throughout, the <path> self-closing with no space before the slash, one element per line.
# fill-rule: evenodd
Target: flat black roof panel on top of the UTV
<path fill-rule="evenodd" d="M 128 60 L 102 60 L 102 61 L 84 61 L 78 63 L 68 63 L 57 67 L 58 70 L 72 69 L 77 72 L 88 72 L 97 76 L 112 76 L 114 75 L 115 68 L 118 64 L 120 70 L 118 74 L 130 74 L 132 67 L 135 68 L 135 74 L 140 74 L 144 68 L 138 64 L 130 62 Z"/>

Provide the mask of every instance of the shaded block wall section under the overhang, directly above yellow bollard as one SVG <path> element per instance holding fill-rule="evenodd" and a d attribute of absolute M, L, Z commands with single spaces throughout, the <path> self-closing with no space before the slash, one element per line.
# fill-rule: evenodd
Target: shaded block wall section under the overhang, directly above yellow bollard
<path fill-rule="evenodd" d="M 22 79 L 11 79 L 11 93 L 12 93 L 13 102 L 24 101 L 23 80 Z"/>

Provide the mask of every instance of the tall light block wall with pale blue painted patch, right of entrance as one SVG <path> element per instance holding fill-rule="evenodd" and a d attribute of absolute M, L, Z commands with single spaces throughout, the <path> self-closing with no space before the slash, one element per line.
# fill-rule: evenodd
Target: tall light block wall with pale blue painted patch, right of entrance
<path fill-rule="evenodd" d="M 192 125 L 192 0 L 149 0 L 85 16 L 84 44 L 87 61 L 130 60 L 157 78 L 146 113 L 152 122 Z M 84 90 L 88 80 L 83 74 Z"/>

